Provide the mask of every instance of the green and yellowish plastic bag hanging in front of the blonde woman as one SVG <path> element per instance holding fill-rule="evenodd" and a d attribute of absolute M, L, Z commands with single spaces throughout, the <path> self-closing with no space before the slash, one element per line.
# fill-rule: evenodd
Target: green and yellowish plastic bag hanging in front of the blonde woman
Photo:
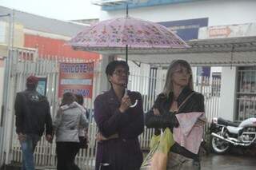
<path fill-rule="evenodd" d="M 174 145 L 174 137 L 170 128 L 166 128 L 161 135 L 152 136 L 150 140 L 150 152 L 142 163 L 141 170 L 166 169 L 168 152 Z"/>

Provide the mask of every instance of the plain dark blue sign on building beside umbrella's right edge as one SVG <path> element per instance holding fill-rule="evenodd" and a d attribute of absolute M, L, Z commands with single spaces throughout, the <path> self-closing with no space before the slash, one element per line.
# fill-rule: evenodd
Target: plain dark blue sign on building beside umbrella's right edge
<path fill-rule="evenodd" d="M 178 34 L 182 40 L 188 41 L 198 39 L 198 30 L 201 27 L 208 26 L 208 18 L 197 18 L 180 20 L 174 22 L 158 22 L 162 26 L 166 26 Z"/>

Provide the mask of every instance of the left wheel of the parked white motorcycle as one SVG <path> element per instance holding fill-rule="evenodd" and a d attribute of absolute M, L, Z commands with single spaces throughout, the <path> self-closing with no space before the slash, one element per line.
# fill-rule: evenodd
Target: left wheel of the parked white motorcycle
<path fill-rule="evenodd" d="M 218 135 L 221 135 L 221 131 L 216 132 Z M 224 132 L 225 137 L 228 137 L 228 134 Z M 225 140 L 221 140 L 218 137 L 210 136 L 210 146 L 211 150 L 218 154 L 225 154 L 230 151 L 230 143 Z"/>

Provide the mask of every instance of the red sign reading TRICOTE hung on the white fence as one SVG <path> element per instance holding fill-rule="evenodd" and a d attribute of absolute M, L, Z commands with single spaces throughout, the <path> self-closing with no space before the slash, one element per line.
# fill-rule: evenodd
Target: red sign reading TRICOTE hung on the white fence
<path fill-rule="evenodd" d="M 58 97 L 66 92 L 92 97 L 94 62 L 61 63 L 59 73 Z"/>

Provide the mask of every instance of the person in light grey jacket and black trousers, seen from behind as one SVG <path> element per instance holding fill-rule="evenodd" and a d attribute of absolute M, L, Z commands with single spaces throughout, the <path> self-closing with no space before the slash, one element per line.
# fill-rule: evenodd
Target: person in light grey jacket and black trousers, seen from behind
<path fill-rule="evenodd" d="M 54 120 L 58 170 L 79 170 L 74 158 L 79 150 L 79 128 L 88 125 L 85 110 L 75 101 L 73 93 L 66 92 Z"/>

